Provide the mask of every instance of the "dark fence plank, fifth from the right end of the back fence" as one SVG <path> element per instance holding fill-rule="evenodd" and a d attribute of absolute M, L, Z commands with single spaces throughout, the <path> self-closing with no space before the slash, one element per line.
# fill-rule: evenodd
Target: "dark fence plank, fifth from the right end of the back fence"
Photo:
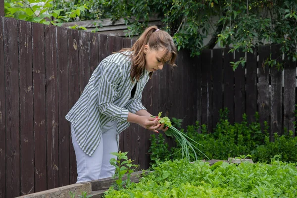
<path fill-rule="evenodd" d="M 245 57 L 244 52 L 235 52 L 235 60 L 239 61 Z M 246 66 L 240 64 L 234 72 L 234 122 L 243 121 L 243 114 L 246 112 Z"/>

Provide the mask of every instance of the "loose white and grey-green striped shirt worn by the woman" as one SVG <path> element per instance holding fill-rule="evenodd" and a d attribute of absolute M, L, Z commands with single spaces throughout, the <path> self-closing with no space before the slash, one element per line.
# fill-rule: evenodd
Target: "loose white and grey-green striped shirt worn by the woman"
<path fill-rule="evenodd" d="M 114 53 L 104 58 L 94 70 L 83 94 L 66 115 L 66 119 L 73 125 L 78 145 L 86 154 L 91 156 L 98 147 L 101 129 L 106 123 L 118 121 L 119 142 L 119 134 L 130 125 L 127 122 L 128 112 L 136 113 L 146 109 L 141 99 L 149 72 L 145 69 L 136 85 L 136 81 L 131 81 L 130 71 L 130 56 Z M 136 91 L 131 98 L 135 85 Z"/>

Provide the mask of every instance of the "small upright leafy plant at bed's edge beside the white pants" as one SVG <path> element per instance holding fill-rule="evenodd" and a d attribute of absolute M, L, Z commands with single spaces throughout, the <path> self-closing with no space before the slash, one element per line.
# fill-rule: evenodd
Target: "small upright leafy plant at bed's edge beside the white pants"
<path fill-rule="evenodd" d="M 131 184 L 131 173 L 133 173 L 134 169 L 139 166 L 137 164 L 132 164 L 134 160 L 128 160 L 127 153 L 128 152 L 122 151 L 111 153 L 117 157 L 117 159 L 111 158 L 109 161 L 111 165 L 115 166 L 114 178 L 116 178 L 116 189 L 122 189 L 124 185 L 129 186 Z M 123 180 L 125 174 L 127 174 L 127 180 Z"/>

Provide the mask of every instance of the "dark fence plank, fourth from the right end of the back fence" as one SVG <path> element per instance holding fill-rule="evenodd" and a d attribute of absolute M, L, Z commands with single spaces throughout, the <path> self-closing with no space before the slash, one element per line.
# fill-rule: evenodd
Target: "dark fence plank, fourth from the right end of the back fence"
<path fill-rule="evenodd" d="M 257 50 L 247 52 L 247 121 L 255 121 L 257 111 Z"/>

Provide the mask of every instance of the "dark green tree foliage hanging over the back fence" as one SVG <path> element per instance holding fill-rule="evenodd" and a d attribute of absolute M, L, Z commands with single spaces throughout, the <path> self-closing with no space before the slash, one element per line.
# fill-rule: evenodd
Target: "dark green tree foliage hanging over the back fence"
<path fill-rule="evenodd" d="M 216 44 L 220 47 L 233 47 L 231 52 L 237 49 L 254 52 L 255 47 L 260 45 L 279 44 L 288 59 L 293 61 L 297 59 L 297 0 L 54 0 L 53 2 L 53 7 L 50 9 L 60 10 L 61 15 L 70 14 L 75 7 L 84 4 L 90 8 L 80 13 L 80 19 L 68 17 L 69 21 L 124 18 L 129 24 L 127 36 L 143 32 L 148 26 L 149 17 L 157 14 L 163 22 L 161 29 L 170 33 L 178 49 L 189 49 L 192 56 L 199 55 L 201 49 L 211 49 Z M 212 38 L 207 45 L 204 45 L 203 40 L 208 35 L 212 35 Z M 235 69 L 245 62 L 246 58 L 242 57 L 240 61 L 232 64 Z M 270 65 L 276 64 L 275 62 L 267 60 Z"/>

